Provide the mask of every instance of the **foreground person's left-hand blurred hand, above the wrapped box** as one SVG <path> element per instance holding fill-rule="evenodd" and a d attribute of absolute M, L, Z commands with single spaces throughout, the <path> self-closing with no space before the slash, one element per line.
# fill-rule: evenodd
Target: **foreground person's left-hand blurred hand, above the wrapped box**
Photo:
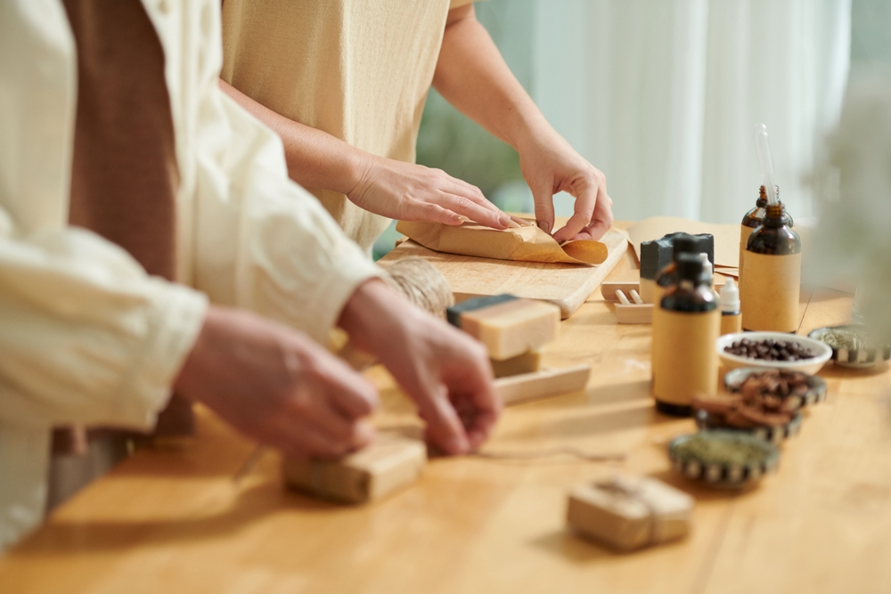
<path fill-rule="evenodd" d="M 371 443 L 378 395 L 346 363 L 294 330 L 211 306 L 176 378 L 242 433 L 295 458 L 337 458 Z"/>

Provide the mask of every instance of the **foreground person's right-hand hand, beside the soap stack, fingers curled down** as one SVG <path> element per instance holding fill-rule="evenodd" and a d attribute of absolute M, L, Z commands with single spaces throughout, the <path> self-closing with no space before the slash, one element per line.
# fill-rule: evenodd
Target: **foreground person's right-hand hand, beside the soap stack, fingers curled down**
<path fill-rule="evenodd" d="M 429 441 L 459 454 L 486 440 L 502 405 L 484 346 L 380 281 L 356 289 L 339 325 L 356 346 L 377 355 L 418 405 Z"/>

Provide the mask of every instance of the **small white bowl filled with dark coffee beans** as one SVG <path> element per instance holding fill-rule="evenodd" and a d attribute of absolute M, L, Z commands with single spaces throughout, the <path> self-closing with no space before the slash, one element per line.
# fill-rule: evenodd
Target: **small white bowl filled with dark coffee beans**
<path fill-rule="evenodd" d="M 728 370 L 758 366 L 813 375 L 832 356 L 832 349 L 819 340 L 783 332 L 726 334 L 717 339 L 715 348 Z"/>

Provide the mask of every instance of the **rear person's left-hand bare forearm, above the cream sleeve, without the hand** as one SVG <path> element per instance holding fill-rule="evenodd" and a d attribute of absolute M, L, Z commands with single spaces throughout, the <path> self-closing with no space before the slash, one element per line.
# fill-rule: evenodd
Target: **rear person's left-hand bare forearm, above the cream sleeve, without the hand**
<path fill-rule="evenodd" d="M 220 88 L 242 108 L 282 137 L 288 175 L 305 188 L 346 194 L 356 187 L 366 167 L 364 151 L 312 126 L 270 110 L 220 79 Z"/>

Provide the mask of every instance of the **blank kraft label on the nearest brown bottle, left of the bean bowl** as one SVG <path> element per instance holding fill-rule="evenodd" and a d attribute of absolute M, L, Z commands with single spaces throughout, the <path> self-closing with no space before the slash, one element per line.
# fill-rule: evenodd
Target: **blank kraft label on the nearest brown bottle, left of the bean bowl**
<path fill-rule="evenodd" d="M 721 311 L 671 312 L 661 307 L 653 324 L 653 395 L 663 402 L 690 406 L 696 395 L 714 395 L 718 384 L 715 340 Z M 658 327 L 657 327 L 658 323 Z"/>

